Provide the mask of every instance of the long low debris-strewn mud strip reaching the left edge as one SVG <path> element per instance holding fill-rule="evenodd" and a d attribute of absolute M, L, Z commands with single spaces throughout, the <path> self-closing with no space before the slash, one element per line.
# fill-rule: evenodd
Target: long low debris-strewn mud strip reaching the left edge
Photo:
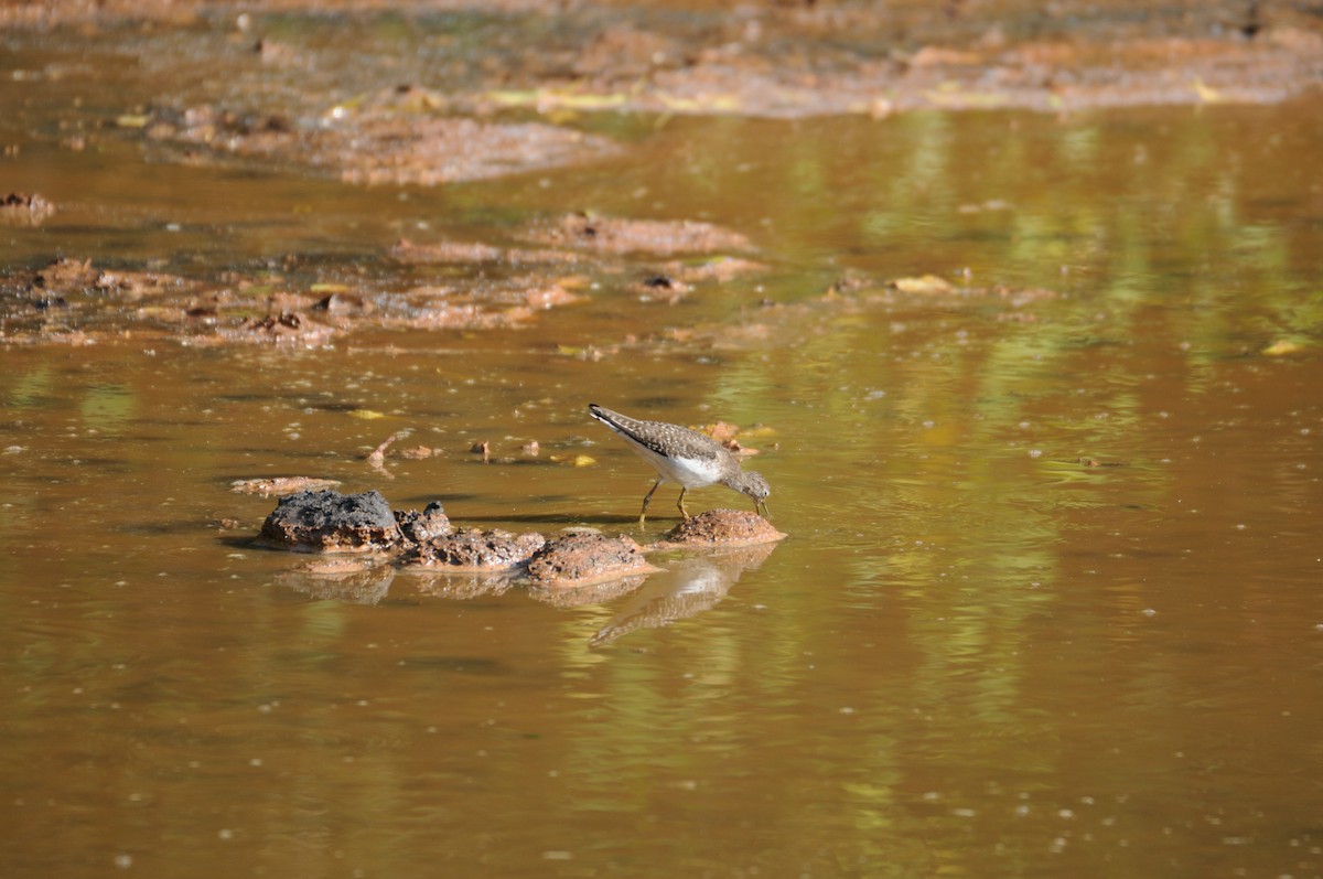
<path fill-rule="evenodd" d="M 389 278 L 319 282 L 280 273 L 102 270 L 58 259 L 0 269 L 0 344 L 175 340 L 189 347 L 321 346 L 361 330 L 513 330 L 579 301 L 579 277 L 472 277 L 400 287 Z"/>

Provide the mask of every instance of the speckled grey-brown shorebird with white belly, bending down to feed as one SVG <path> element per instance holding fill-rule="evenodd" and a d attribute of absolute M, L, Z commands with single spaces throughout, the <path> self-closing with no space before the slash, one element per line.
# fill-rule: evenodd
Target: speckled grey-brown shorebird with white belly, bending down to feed
<path fill-rule="evenodd" d="M 685 519 L 689 518 L 689 511 L 684 508 L 684 492 L 718 482 L 753 498 L 754 512 L 767 515 L 767 495 L 771 494 L 767 481 L 757 473 L 740 470 L 740 458 L 712 437 L 677 424 L 640 421 L 622 416 L 595 402 L 590 402 L 587 410 L 594 418 L 624 437 L 630 447 L 658 471 L 656 483 L 643 495 L 640 523 L 648 514 L 652 494 L 663 482 L 675 482 L 680 486 L 680 499 L 676 506 Z"/>

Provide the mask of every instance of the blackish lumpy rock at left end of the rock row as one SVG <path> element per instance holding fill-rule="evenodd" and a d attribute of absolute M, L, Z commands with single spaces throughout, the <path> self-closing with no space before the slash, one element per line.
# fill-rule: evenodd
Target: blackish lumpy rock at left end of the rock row
<path fill-rule="evenodd" d="M 262 536 L 292 549 L 377 552 L 394 547 L 401 533 L 380 491 L 300 491 L 280 498 Z"/>

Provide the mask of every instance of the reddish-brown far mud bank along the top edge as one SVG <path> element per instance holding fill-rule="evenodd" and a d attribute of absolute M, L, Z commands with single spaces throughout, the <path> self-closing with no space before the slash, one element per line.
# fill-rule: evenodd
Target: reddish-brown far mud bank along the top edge
<path fill-rule="evenodd" d="M 164 0 L 8 3 L 0 5 L 0 28 L 124 23 L 184 28 L 212 21 L 218 12 L 210 4 Z M 389 4 L 345 0 L 287 0 L 265 4 L 263 12 L 396 13 Z M 922 107 L 1062 111 L 1274 102 L 1315 87 L 1323 78 L 1323 25 L 1304 4 L 763 0 L 732 11 L 728 4 L 703 0 L 585 0 L 549 11 L 532 0 L 433 0 L 411 7 L 407 15 L 479 12 L 508 17 L 512 24 L 554 19 L 564 26 L 537 30 L 537 52 L 497 29 L 480 46 L 480 64 L 455 56 L 437 68 L 467 87 L 442 91 L 407 83 L 384 101 L 462 113 L 511 106 L 541 113 L 769 116 L 886 115 Z M 324 61 L 294 40 L 266 38 L 254 13 L 237 11 L 233 21 L 237 36 L 249 38 L 254 65 L 308 68 Z M 409 143 L 419 132 L 409 124 L 388 124 L 378 134 L 402 135 L 401 143 Z M 484 143 L 483 136 L 474 140 Z M 497 134 L 497 154 L 503 143 Z M 323 150 L 337 154 L 333 144 Z M 386 177 L 394 176 L 390 165 L 378 165 Z"/>

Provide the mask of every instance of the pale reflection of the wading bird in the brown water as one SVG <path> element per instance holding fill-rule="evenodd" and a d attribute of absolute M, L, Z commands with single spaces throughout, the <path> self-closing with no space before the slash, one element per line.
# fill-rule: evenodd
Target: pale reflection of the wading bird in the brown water
<path fill-rule="evenodd" d="M 710 610 L 745 571 L 761 565 L 775 548 L 777 544 L 769 543 L 684 559 L 635 593 L 589 639 L 589 646 L 601 647 L 636 629 L 660 629 Z"/>

